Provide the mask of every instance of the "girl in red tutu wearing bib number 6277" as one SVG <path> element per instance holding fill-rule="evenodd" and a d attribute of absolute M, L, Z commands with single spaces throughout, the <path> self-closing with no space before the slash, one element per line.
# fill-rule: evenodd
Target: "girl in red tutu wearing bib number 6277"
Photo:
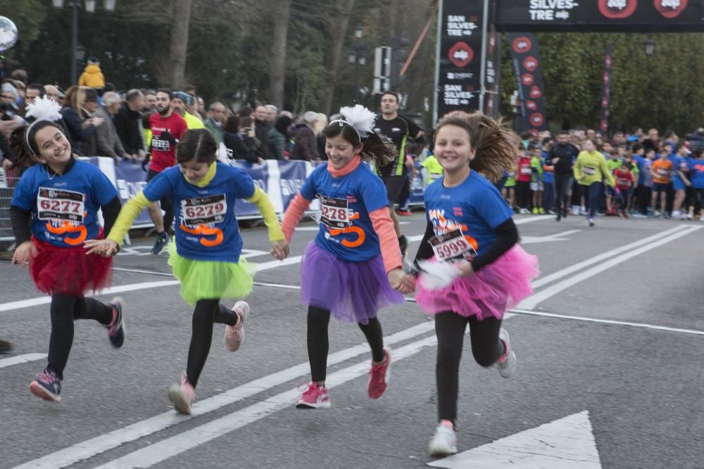
<path fill-rule="evenodd" d="M 37 288 L 51 295 L 49 363 L 30 391 L 47 401 L 61 401 L 75 319 L 101 323 L 113 347 L 122 347 L 125 340 L 124 302 L 116 297 L 103 304 L 84 297 L 85 292 L 111 283 L 111 259 L 87 255 L 83 245 L 103 236 L 98 210 L 110 229 L 120 212 L 120 199 L 98 167 L 71 153 L 63 129 L 52 122 L 58 105 L 46 98 L 37 101 L 27 115 L 39 118 L 24 129 L 24 145 L 15 148 L 39 164 L 26 169 L 15 188 L 10 215 L 17 248 L 12 262 L 28 265 Z"/>

